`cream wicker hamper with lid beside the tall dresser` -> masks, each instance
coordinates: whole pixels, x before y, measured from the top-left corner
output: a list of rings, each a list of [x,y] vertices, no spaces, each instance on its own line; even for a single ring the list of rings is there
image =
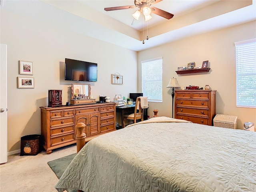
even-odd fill
[[[230,129],[236,129],[237,116],[216,114],[213,119],[213,125],[215,127],[224,127]]]

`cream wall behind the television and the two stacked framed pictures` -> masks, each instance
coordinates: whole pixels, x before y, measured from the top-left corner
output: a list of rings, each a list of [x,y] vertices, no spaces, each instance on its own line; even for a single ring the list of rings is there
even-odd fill
[[[40,9],[31,10],[28,1],[19,1],[20,10],[12,9],[16,1],[5,1],[1,8],[1,43],[8,45],[8,152],[20,149],[20,137],[41,134],[39,107],[48,105],[49,89],[63,90],[64,105],[70,99],[72,82],[64,81],[65,58],[98,63],[98,81],[90,82],[96,100],[100,94],[113,100],[115,94],[127,97],[137,91],[137,52],[38,20],[36,14],[48,16],[41,11],[46,5],[29,2]],[[54,11],[62,17],[62,11]],[[17,77],[26,76],[19,74],[19,60],[33,62],[33,75],[28,77],[34,78],[34,89],[17,88]],[[116,72],[123,75],[123,85],[111,84]]]

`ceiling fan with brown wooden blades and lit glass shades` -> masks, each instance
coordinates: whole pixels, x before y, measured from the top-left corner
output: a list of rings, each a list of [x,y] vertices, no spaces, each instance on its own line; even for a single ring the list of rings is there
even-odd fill
[[[150,13],[157,14],[161,17],[164,17],[166,19],[171,19],[174,14],[168,13],[164,10],[158,9],[156,7],[150,7],[152,4],[156,4],[162,0],[134,0],[134,5],[128,5],[128,6],[118,6],[118,7],[107,7],[104,8],[105,11],[114,11],[114,10],[122,10],[122,9],[131,9],[131,8],[139,8],[132,16],[138,20],[141,13],[143,13],[145,20],[148,21],[152,18],[150,16]]]

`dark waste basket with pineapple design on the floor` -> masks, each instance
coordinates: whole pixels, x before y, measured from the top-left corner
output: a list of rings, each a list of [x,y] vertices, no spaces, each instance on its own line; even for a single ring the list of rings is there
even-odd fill
[[[41,150],[41,135],[26,135],[20,138],[20,156],[37,155]]]

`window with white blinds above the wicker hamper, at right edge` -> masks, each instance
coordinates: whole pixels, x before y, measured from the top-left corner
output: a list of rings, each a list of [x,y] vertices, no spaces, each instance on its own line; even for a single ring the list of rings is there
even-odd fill
[[[256,38],[235,46],[236,106],[256,108]]]

